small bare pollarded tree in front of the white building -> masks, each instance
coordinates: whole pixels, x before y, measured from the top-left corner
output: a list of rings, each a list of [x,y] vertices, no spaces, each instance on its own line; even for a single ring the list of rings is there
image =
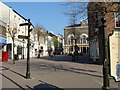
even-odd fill
[[[7,33],[9,34],[9,36],[11,37],[12,39],[12,43],[13,43],[13,50],[12,50],[12,53],[13,53],[13,64],[15,64],[15,57],[14,57],[14,45],[15,45],[15,37],[17,35],[17,33],[19,32],[20,30],[17,30],[17,28],[10,28],[8,26],[8,29],[7,29]]]

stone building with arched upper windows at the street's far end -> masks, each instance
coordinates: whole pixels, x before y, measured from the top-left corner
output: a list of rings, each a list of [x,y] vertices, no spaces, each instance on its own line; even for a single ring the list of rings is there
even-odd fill
[[[75,45],[78,46],[79,54],[88,53],[88,25],[85,20],[80,21],[80,24],[74,24],[64,28],[64,54],[73,54]]]

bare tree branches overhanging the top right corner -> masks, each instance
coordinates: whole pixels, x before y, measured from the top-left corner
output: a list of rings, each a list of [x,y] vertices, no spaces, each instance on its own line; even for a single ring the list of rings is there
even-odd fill
[[[114,0],[113,0],[114,1]],[[87,13],[88,12],[98,12],[94,10],[89,10],[88,7],[98,7],[102,9],[102,12],[110,13],[110,12],[120,12],[120,1],[118,2],[110,2],[109,0],[99,0],[95,2],[94,0],[91,2],[80,2],[80,1],[74,1],[74,0],[68,0],[67,3],[63,4],[65,6],[65,15],[68,15],[70,17],[70,20],[72,19],[73,15],[76,14],[77,18],[79,19],[86,19],[87,20]],[[115,5],[114,9],[111,9],[111,5]]]

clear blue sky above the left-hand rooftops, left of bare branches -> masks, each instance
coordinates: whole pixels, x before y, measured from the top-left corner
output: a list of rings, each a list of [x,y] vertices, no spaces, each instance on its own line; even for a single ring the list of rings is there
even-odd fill
[[[69,16],[64,15],[62,2],[5,2],[34,26],[40,24],[48,31],[64,35],[64,27],[69,25]]]

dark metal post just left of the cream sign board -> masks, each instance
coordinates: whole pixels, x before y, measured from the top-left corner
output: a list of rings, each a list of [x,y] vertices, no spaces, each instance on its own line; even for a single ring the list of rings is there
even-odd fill
[[[101,34],[102,34],[102,46],[103,46],[103,90],[110,90],[109,84],[109,67],[108,67],[108,41],[106,36],[106,19],[101,18]]]

